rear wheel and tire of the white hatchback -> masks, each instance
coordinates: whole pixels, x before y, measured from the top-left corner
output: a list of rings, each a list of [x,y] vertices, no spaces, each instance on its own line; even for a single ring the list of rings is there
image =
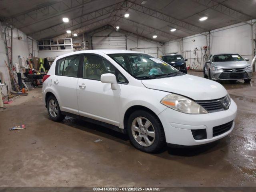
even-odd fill
[[[51,120],[53,121],[62,121],[66,115],[62,115],[60,111],[60,106],[57,99],[54,96],[49,96],[47,99],[47,111]]]

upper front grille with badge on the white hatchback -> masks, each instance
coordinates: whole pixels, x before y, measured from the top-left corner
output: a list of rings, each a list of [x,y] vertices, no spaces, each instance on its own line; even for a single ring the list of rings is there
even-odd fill
[[[230,98],[228,95],[226,95],[225,97],[222,97],[216,100],[196,101],[196,102],[210,113],[210,112],[227,110],[228,106],[230,105]],[[228,106],[225,107],[224,102],[226,102]]]

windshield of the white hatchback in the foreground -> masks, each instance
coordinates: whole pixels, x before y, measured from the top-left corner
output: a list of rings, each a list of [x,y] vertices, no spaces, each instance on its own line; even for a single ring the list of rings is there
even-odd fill
[[[120,66],[137,79],[162,78],[183,74],[162,60],[148,54],[109,54]]]

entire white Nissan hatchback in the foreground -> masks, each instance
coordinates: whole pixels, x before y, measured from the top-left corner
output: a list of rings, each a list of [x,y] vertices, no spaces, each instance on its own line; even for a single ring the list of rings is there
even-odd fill
[[[145,152],[166,143],[193,146],[223,138],[234,128],[237,111],[218,82],[127,50],[57,57],[44,76],[42,93],[52,120],[68,115],[127,132]]]

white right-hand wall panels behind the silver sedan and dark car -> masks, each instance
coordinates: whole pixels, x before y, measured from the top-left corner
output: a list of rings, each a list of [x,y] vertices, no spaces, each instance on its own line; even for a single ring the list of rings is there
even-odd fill
[[[256,28],[256,24],[254,24]],[[254,30],[254,38],[256,31]],[[195,40],[195,41],[193,41]],[[209,39],[208,39],[209,40]],[[182,41],[182,44],[179,43]],[[164,53],[182,53],[184,58],[188,59],[186,65],[194,66],[198,62],[197,70],[202,70],[205,60],[203,47],[208,45],[206,37],[202,34],[188,36],[183,40],[166,42]],[[194,50],[198,48],[198,56],[194,54]],[[182,50],[181,50],[182,49]],[[201,51],[202,50],[202,51]],[[226,26],[216,30],[210,31],[210,53],[238,53],[244,58],[250,59],[249,64],[252,62],[252,28],[248,24],[238,23],[231,26]],[[198,60],[197,60],[198,58]],[[255,66],[256,67],[256,66]]]

